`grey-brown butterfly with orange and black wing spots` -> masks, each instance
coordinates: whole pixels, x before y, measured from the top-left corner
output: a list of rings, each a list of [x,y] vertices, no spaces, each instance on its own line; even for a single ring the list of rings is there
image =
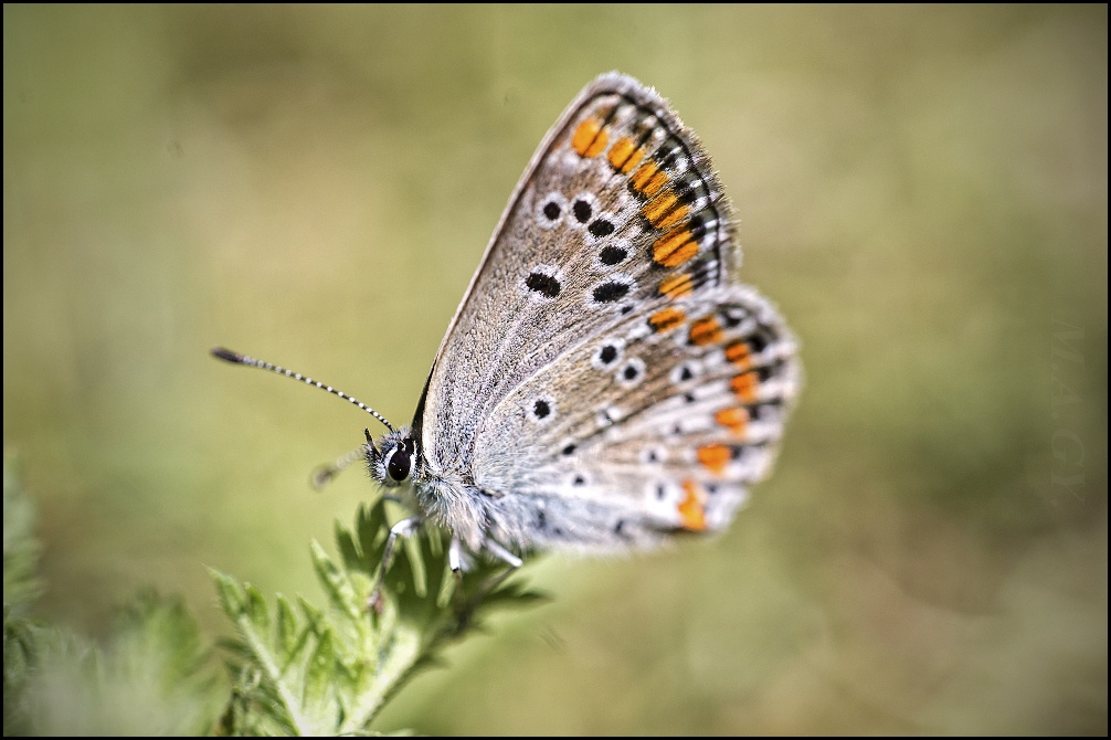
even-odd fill
[[[327,388],[389,428],[359,453],[409,491],[407,524],[451,533],[453,568],[460,548],[517,566],[730,523],[771,470],[801,378],[778,310],[734,278],[731,218],[668,102],[602,74],[518,182],[412,424]]]

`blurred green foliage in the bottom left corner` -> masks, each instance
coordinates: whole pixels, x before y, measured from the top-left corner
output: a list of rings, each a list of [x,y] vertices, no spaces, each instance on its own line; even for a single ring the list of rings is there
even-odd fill
[[[42,584],[34,507],[16,461],[3,470],[4,734],[197,734],[220,686],[177,599],[140,593],[98,646],[30,616]]]

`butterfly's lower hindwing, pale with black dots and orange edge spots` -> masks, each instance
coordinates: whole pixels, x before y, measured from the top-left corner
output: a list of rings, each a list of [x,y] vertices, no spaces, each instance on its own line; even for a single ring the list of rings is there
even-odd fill
[[[512,489],[497,508],[533,511],[506,527],[510,539],[609,550],[715,531],[765,476],[798,388],[793,340],[743,286],[684,308],[690,320],[662,332],[630,317],[494,408],[476,444],[476,483]]]

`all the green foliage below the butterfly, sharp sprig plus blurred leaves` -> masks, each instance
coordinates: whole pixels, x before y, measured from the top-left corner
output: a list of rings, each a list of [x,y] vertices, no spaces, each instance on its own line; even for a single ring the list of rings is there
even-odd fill
[[[140,593],[94,643],[32,616],[42,584],[34,506],[4,458],[4,734],[360,734],[418,670],[494,610],[536,603],[504,567],[479,561],[457,578],[447,539],[401,540],[369,609],[389,533],[384,501],[337,524],[339,559],[310,552],[327,606],[268,599],[213,571],[237,629],[227,676],[179,599]]]

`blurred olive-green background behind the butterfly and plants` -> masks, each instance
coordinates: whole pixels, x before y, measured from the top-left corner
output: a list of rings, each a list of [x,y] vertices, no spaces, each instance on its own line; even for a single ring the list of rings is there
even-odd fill
[[[620,69],[694,128],[802,342],[714,541],[529,566],[378,723],[1094,732],[1107,721],[1107,7],[3,9],[3,434],[44,614],[204,566],[320,600],[517,178]]]

